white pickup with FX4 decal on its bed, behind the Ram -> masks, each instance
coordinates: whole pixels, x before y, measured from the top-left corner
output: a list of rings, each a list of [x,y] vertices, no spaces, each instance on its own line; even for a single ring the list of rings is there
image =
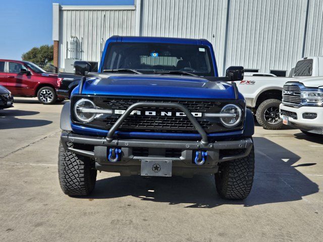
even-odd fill
[[[236,81],[239,91],[246,99],[247,107],[256,115],[264,129],[278,130],[283,126],[279,115],[282,91],[286,82],[302,77],[323,76],[323,56],[300,59],[291,70],[291,77],[275,77],[272,74],[246,73],[242,81]],[[252,76],[251,76],[252,75]]]

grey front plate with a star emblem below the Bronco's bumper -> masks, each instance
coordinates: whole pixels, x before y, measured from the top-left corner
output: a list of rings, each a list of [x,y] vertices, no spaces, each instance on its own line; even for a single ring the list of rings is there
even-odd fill
[[[141,160],[141,175],[172,176],[172,160]]]

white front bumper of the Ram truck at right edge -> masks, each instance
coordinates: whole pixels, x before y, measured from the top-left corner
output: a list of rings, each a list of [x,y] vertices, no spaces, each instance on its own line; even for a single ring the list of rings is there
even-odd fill
[[[280,116],[288,116],[288,122],[291,126],[311,133],[323,134],[323,107],[290,107],[284,104],[280,106]],[[287,115],[284,111],[293,112],[294,115]],[[313,119],[304,118],[304,113],[315,113],[317,116]],[[296,115],[295,115],[296,114]]]

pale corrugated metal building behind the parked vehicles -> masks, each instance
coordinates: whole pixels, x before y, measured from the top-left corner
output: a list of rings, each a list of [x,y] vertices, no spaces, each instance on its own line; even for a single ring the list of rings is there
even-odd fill
[[[219,74],[229,66],[289,74],[298,59],[323,55],[323,0],[135,0],[133,6],[53,4],[54,65],[99,62],[113,35],[207,39]]]

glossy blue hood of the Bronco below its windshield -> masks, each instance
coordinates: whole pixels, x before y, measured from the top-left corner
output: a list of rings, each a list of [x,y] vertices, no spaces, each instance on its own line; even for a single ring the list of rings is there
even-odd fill
[[[172,75],[99,74],[84,83],[82,94],[235,99],[229,83]]]

